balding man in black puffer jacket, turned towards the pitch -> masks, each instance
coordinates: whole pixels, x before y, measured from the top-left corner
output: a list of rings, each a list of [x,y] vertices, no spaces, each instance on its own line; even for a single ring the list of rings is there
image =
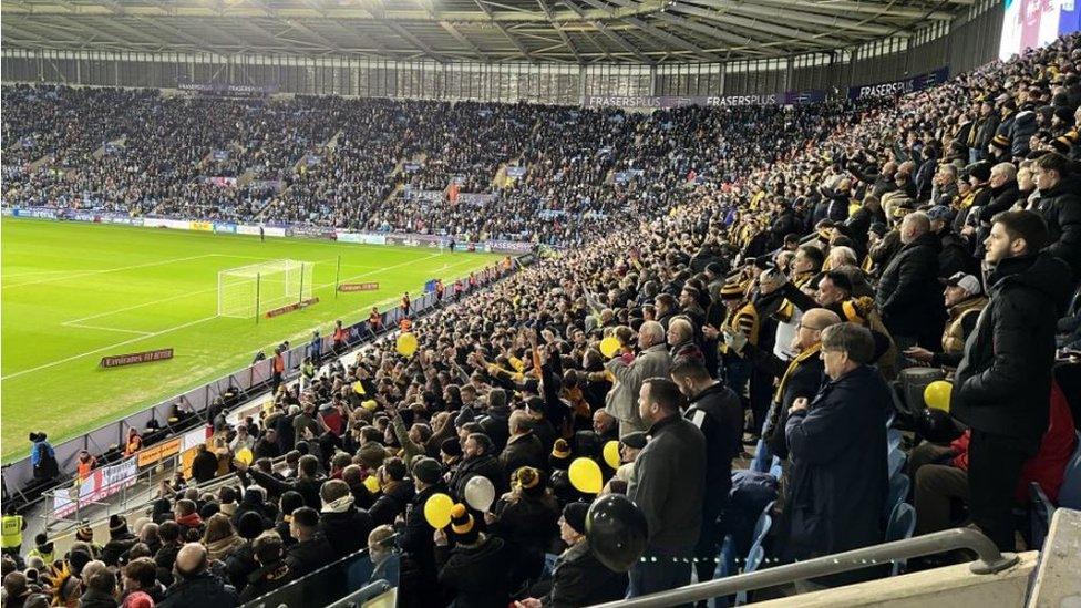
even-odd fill
[[[938,236],[930,218],[916,212],[900,225],[899,251],[886,266],[875,303],[899,349],[917,343],[935,347],[943,336],[946,308],[938,282]]]

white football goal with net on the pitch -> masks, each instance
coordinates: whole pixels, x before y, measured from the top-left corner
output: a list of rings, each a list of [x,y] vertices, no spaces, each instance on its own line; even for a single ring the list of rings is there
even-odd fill
[[[312,262],[279,259],[218,272],[218,316],[251,319],[311,299]]]

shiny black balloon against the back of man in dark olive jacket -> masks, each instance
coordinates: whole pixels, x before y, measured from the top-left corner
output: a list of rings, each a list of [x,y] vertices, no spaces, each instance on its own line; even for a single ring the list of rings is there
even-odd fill
[[[626,573],[646,552],[649,529],[641,509],[620,494],[597,498],[586,515],[586,538],[601,564]]]

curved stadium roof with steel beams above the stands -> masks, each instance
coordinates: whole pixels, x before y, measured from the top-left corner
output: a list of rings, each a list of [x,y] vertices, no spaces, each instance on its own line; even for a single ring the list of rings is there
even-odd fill
[[[907,35],[974,0],[2,0],[4,47],[700,62]]]

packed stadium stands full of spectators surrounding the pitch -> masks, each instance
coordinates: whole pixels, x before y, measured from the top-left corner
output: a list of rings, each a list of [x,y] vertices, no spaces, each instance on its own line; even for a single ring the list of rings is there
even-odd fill
[[[1038,548],[1026,515],[1081,506],[1079,58],[1070,35],[908,95],[649,114],[6,86],[4,141],[33,142],[6,205],[574,246],[418,319],[415,355],[380,338],[223,412],[224,453],[148,521],[6,549],[9,598],[236,606],[331,566],[342,597],[587,606],[966,523]],[[931,367],[950,396],[895,408]]]

